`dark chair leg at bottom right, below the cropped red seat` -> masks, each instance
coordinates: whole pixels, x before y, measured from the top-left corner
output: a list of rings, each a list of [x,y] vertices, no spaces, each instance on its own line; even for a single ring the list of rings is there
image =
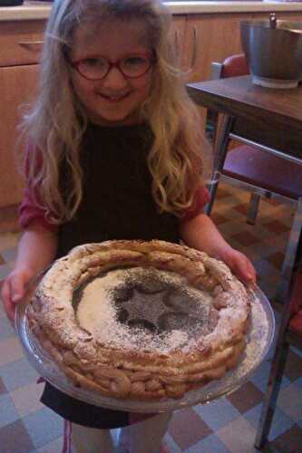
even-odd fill
[[[280,346],[276,348],[276,352],[272,360],[268,378],[268,387],[262,403],[262,410],[255,440],[255,447],[258,449],[264,447],[268,441],[268,433],[276,410],[278,393],[287,361],[288,349],[289,345],[283,339]]]

